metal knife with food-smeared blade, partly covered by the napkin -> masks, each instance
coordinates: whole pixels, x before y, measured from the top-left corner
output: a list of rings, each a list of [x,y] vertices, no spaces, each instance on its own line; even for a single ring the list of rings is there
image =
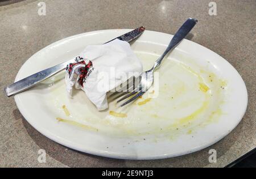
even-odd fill
[[[127,32],[115,39],[131,42],[131,41],[137,39],[139,36],[141,36],[142,33],[144,32],[144,29],[145,29],[144,27],[139,27],[139,28],[134,29],[133,31]],[[113,41],[115,39],[112,39],[110,41]],[[110,41],[108,41],[108,42],[110,42]],[[106,43],[108,43],[108,42],[106,42]],[[51,77],[52,75],[55,75],[55,74],[59,73],[60,71],[64,70],[65,67],[68,65],[68,63],[72,63],[74,59],[71,59],[64,63],[60,63],[59,65],[55,65],[53,67],[49,67],[48,69],[39,71],[38,73],[27,76],[26,78],[23,78],[23,79],[19,80],[18,82],[10,84],[9,86],[7,86],[5,88],[6,95],[7,96],[16,95],[19,92],[27,90],[28,88],[31,88],[32,86],[35,86],[35,84],[42,82],[43,80]]]

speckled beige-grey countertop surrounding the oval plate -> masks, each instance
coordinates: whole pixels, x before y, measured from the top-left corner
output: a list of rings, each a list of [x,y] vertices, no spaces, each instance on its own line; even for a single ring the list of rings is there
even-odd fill
[[[256,147],[256,1],[214,1],[217,15],[210,16],[211,0],[120,1],[77,0],[46,3],[38,15],[33,0],[0,3],[0,167],[224,167]],[[3,88],[14,81],[22,64],[45,46],[78,33],[100,29],[136,28],[174,34],[188,17],[199,20],[192,41],[227,59],[245,80],[247,112],[228,136],[193,154],[163,160],[117,160],[83,154],[61,146],[36,131],[20,114],[14,98]],[[38,150],[46,150],[46,163]],[[217,151],[209,163],[208,151]]]

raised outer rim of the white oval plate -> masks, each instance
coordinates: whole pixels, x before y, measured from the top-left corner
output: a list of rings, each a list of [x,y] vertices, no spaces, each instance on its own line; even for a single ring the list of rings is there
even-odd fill
[[[118,33],[122,34],[122,33],[128,32],[128,31],[131,31],[131,30],[132,29],[106,29],[106,30],[101,30],[101,31],[85,32],[85,33],[80,33],[78,35],[70,36],[70,37],[67,37],[65,39],[61,39],[59,41],[53,42],[52,44],[50,44],[50,45],[46,46],[45,48],[39,50],[33,56],[31,56],[30,58],[27,59],[27,61],[23,64],[23,66],[20,68],[18,74],[16,75],[15,81],[25,77],[25,76],[22,75],[22,69],[24,68],[25,65],[27,65],[27,63],[30,63],[31,59],[34,58],[34,56],[36,54],[42,52],[43,50],[51,48],[51,46],[55,46],[55,45],[59,44],[60,42],[71,40],[71,39],[75,39],[77,37],[79,38],[81,36],[86,36],[86,35],[97,35],[99,33],[108,33],[108,32],[118,32]],[[143,33],[143,35],[145,33],[151,33],[151,34],[158,33],[158,34],[162,34],[163,36],[172,37],[172,35],[170,35],[168,33],[163,33],[163,32],[145,31]],[[230,66],[234,70],[236,70],[228,61],[226,61],[226,59],[222,58],[221,56],[219,56],[217,53],[213,52],[212,50],[210,50],[208,48],[205,48],[204,46],[202,46],[200,44],[197,44],[196,42],[187,40],[187,39],[185,39],[185,40],[183,40],[183,42],[181,42],[181,44],[187,44],[187,43],[191,43],[192,45],[196,45],[197,48],[207,50],[207,51],[209,51],[209,53],[212,53],[215,56],[217,55],[218,58],[221,58],[221,60],[224,60],[226,63],[228,63],[228,66]],[[177,48],[179,48],[179,46],[177,46]],[[236,70],[236,73],[237,73],[238,76],[240,76],[240,78],[242,80],[242,77],[237,72],[237,70]],[[45,135],[47,138],[49,138],[49,139],[51,139],[51,140],[53,140],[53,141],[55,141],[57,143],[63,144],[64,146],[67,146],[69,148],[73,148],[73,149],[75,149],[77,151],[81,151],[81,152],[85,152],[85,153],[93,154],[93,155],[98,155],[98,156],[112,157],[112,158],[116,158],[116,159],[150,160],[150,159],[164,159],[164,158],[168,158],[168,157],[175,157],[175,156],[181,156],[181,155],[185,155],[185,154],[190,154],[192,152],[199,151],[199,150],[202,150],[203,148],[209,147],[212,144],[214,144],[214,143],[218,142],[219,140],[221,140],[222,138],[224,138],[226,135],[228,135],[234,128],[236,128],[238,123],[240,123],[240,121],[242,120],[242,117],[244,116],[244,114],[246,112],[246,109],[247,109],[248,98],[247,98],[247,90],[246,90],[245,82],[242,80],[242,82],[240,82],[240,83],[242,84],[241,88],[243,88],[242,89],[243,96],[246,96],[246,99],[245,99],[244,104],[243,104],[242,109],[241,109],[241,111],[242,111],[241,116],[237,117],[237,118],[239,118],[239,120],[237,120],[236,125],[230,127],[230,130],[227,130],[226,133],[221,134],[220,137],[218,137],[218,138],[216,138],[214,140],[211,140],[208,143],[205,143],[205,144],[203,144],[201,146],[197,146],[197,147],[192,148],[191,150],[187,150],[185,152],[183,151],[183,152],[176,152],[176,154],[162,154],[162,155],[158,154],[158,155],[150,155],[150,156],[126,155],[126,154],[123,154],[122,152],[116,153],[116,152],[109,152],[109,151],[102,151],[102,150],[98,151],[97,149],[85,150],[86,147],[80,146],[79,144],[75,144],[75,143],[73,143],[71,141],[65,140],[65,139],[63,139],[63,138],[61,138],[61,137],[59,137],[59,136],[49,132],[48,130],[42,129],[40,126],[37,126],[33,122],[33,120],[31,119],[32,116],[30,116],[30,114],[27,113],[26,110],[24,110],[26,108],[26,106],[24,107],[22,105],[22,103],[20,101],[20,100],[22,100],[22,99],[20,99],[20,94],[15,95],[14,99],[15,99],[16,105],[18,106],[18,109],[20,110],[20,113],[22,113],[23,117],[27,120],[27,122],[30,123],[30,125],[33,126],[36,130],[38,130],[41,134]]]

